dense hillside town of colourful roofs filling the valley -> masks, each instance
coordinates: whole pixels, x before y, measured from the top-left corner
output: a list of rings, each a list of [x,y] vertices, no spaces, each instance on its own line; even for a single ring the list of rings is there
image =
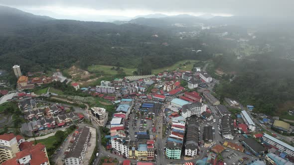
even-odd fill
[[[46,147],[33,137],[54,136],[70,127],[74,132],[50,155],[58,165],[294,165],[289,144],[294,127],[238,100],[220,101],[213,92],[218,81],[200,67],[83,87],[56,74],[23,76],[17,65],[12,70],[17,91],[1,90],[0,101],[17,103],[24,120],[20,134],[30,138],[0,135],[2,165],[49,165]],[[90,107],[83,97],[49,89],[41,94],[27,90],[61,80],[115,109]]]

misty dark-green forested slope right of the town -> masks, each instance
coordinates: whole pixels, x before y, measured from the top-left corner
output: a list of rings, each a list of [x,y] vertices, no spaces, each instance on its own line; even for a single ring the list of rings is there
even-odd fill
[[[232,82],[229,82],[229,77],[224,77],[215,87],[216,93],[221,99],[231,97],[244,105],[254,105],[259,112],[287,114],[287,110],[294,107],[294,61],[281,59],[277,53],[243,60],[232,56],[215,58],[216,68],[226,73],[234,71],[236,75]]]

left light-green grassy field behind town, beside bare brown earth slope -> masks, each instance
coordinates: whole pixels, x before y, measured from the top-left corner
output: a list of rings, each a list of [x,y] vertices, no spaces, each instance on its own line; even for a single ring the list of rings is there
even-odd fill
[[[88,71],[90,71],[90,72],[103,71],[104,75],[111,75],[111,76],[117,75],[118,72],[116,70],[111,70],[112,67],[113,66],[109,66],[109,65],[93,65],[93,66],[88,67]],[[132,76],[133,71],[137,71],[137,69],[135,69],[135,68],[121,68],[121,69],[124,70],[123,72],[125,72],[127,76]]]

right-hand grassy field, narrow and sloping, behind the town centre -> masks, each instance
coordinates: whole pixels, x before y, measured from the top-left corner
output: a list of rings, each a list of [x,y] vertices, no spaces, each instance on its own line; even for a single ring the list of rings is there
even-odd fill
[[[190,61],[191,63],[188,64],[188,65],[185,65],[185,66],[181,66],[180,67],[180,64],[184,64],[186,62]],[[163,67],[163,68],[158,68],[158,69],[154,69],[152,70],[152,74],[158,74],[160,72],[163,72],[163,71],[174,71],[174,70],[184,70],[184,71],[191,71],[193,69],[193,64],[198,62],[197,60],[182,60],[182,61],[178,61],[176,62],[175,64],[171,65],[171,66],[168,66],[168,67]]]

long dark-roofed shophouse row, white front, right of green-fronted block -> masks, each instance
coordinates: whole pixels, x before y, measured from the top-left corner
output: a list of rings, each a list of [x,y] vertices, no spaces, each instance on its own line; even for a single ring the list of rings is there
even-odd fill
[[[199,138],[199,125],[198,118],[189,118],[187,120],[187,134],[185,144],[185,157],[196,157],[200,154],[198,138]]]

